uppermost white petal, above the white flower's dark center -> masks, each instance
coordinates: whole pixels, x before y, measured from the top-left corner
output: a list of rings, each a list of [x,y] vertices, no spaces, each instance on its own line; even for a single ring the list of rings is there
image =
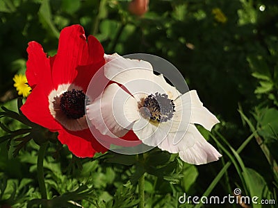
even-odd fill
[[[152,70],[152,64],[144,60],[131,60],[120,55],[104,55],[106,64],[104,74],[109,80],[113,80],[121,85],[140,101],[141,98],[149,94],[167,94],[174,100],[181,94],[169,85],[163,75],[156,76]]]

